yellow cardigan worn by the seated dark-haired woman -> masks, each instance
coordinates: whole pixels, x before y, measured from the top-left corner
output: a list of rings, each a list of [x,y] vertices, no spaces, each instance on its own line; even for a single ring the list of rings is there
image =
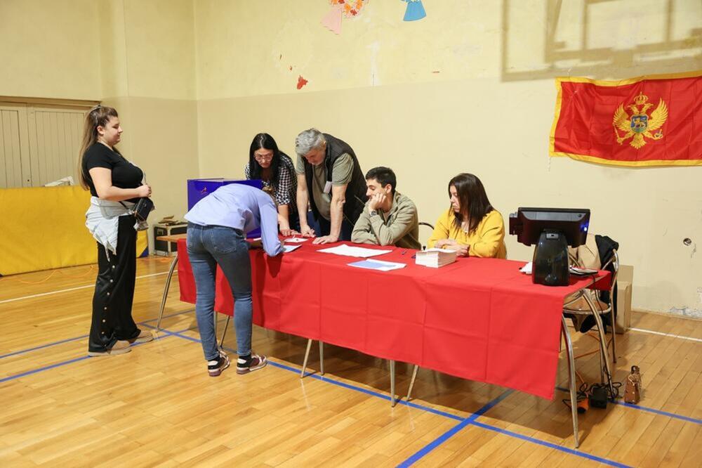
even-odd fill
[[[461,226],[456,226],[453,209],[449,208],[439,216],[434,233],[427,241],[427,247],[434,247],[437,240],[453,239],[459,244],[470,245],[469,256],[490,256],[497,259],[507,258],[505,245],[505,222],[496,209],[480,221],[474,233],[466,233]]]

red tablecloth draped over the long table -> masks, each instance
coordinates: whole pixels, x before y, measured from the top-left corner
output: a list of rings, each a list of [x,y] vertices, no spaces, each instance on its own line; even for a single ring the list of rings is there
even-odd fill
[[[519,272],[523,261],[470,257],[435,269],[417,266],[414,252],[399,248],[373,258],[405,268],[371,271],[347,265],[359,259],[317,252],[326,247],[307,241],[277,257],[251,250],[253,323],[553,397],[563,300],[589,278],[534,285]],[[600,274],[597,285],[609,287]],[[178,281],[180,300],[194,303],[185,240],[178,242]],[[232,315],[233,307],[218,270],[215,310]]]

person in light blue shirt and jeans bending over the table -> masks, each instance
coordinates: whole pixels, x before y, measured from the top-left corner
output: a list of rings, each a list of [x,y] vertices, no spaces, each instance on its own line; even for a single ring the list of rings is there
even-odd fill
[[[272,195],[258,188],[232,183],[197,202],[187,214],[187,255],[197,295],[195,316],[207,372],[217,377],[229,367],[227,354],[217,346],[214,327],[217,266],[234,296],[234,330],[237,333],[237,374],[263,368],[265,356],[251,352],[251,259],[246,233],[261,228],[261,243],[270,256],[283,252],[278,239],[278,214]]]

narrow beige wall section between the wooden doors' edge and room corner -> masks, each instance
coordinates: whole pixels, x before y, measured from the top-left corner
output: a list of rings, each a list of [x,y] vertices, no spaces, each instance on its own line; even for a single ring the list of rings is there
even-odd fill
[[[146,174],[152,221],[187,211],[199,175],[191,0],[100,2],[102,98],[120,112],[122,152]],[[150,231],[150,245],[153,246]]]

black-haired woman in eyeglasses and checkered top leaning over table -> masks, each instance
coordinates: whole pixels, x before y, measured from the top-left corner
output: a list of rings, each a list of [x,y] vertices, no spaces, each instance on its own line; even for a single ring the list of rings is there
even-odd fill
[[[258,134],[251,141],[249,164],[244,173],[247,179],[260,179],[263,187],[273,190],[278,205],[278,222],[282,235],[292,235],[300,230],[300,219],[296,203],[298,181],[293,160],[278,149],[269,134]]]

